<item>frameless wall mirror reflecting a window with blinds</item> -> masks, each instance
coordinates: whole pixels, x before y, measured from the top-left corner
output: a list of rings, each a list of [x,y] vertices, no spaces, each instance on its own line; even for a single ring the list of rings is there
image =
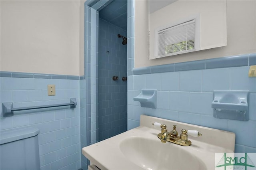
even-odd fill
[[[226,1],[148,0],[148,12],[149,59],[227,45]]]

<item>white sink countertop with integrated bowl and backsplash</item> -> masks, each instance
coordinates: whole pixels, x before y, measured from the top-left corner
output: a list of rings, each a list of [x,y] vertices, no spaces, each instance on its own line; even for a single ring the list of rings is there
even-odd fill
[[[188,136],[191,146],[161,143],[161,129],[154,122],[165,124],[168,131],[177,125],[179,134],[184,128],[202,136]],[[139,127],[84,147],[82,154],[101,170],[213,170],[215,153],[234,152],[234,145],[232,132],[141,115]]]

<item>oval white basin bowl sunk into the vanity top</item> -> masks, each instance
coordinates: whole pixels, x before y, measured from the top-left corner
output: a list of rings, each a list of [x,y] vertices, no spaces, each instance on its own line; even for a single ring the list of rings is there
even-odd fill
[[[122,140],[120,150],[131,162],[146,170],[167,170],[170,165],[174,170],[207,169],[204,162],[186,147],[159,140],[130,137]]]

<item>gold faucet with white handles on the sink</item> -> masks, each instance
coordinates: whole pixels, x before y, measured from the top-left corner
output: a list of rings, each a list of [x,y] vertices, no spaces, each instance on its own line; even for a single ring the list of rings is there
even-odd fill
[[[173,125],[173,130],[171,130],[170,132],[167,132],[166,125],[160,125],[160,127],[161,133],[159,133],[157,136],[163,143],[166,143],[166,141],[168,141],[182,146],[190,146],[191,141],[188,140],[188,134],[194,137],[202,136],[202,134],[199,133],[197,130],[186,129],[182,129],[180,136],[178,136],[178,132],[176,131],[176,125]]]

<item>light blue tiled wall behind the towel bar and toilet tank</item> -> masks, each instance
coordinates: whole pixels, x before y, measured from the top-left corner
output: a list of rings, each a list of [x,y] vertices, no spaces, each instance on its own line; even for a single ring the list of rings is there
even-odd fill
[[[5,75],[5,76],[2,76]],[[12,77],[7,76],[12,75]],[[42,170],[78,170],[81,168],[80,148],[80,94],[79,76],[34,75],[30,73],[1,72],[0,105],[13,102],[15,107],[69,103],[75,97],[75,109],[56,107],[16,111],[12,117],[2,117],[0,130],[19,127],[37,127],[40,130],[39,154]],[[56,77],[54,79],[53,77]],[[21,78],[25,77],[25,78]],[[49,78],[51,77],[51,78]],[[60,78],[64,79],[60,79]],[[78,78],[78,79],[77,79]],[[84,80],[81,80],[84,81]],[[56,95],[48,96],[47,85],[56,85]]]

